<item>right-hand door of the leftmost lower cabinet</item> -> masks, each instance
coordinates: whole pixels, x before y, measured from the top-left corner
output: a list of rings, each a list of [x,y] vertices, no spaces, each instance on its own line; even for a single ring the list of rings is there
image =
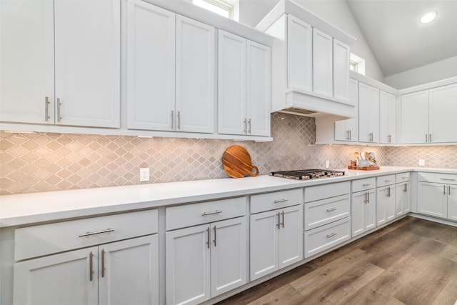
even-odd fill
[[[159,303],[159,238],[99,246],[99,305]]]

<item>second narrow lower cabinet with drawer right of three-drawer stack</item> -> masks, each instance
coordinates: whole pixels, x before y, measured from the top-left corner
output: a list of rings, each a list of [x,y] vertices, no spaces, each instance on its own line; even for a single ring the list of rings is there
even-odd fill
[[[395,219],[395,175],[376,178],[376,224]]]

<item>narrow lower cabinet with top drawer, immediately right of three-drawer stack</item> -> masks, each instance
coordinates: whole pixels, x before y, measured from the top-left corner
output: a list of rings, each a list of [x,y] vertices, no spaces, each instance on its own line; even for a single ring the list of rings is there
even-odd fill
[[[352,237],[376,228],[375,178],[352,181],[351,229]]]

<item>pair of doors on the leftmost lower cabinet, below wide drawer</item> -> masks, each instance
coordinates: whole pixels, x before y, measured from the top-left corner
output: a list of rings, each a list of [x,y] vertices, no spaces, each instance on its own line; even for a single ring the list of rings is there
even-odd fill
[[[155,234],[21,261],[14,304],[156,304],[158,248]]]

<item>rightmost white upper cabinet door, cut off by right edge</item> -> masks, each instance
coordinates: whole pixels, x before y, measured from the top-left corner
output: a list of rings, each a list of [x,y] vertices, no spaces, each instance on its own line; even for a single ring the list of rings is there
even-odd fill
[[[431,143],[457,141],[457,84],[429,91],[429,136]]]

